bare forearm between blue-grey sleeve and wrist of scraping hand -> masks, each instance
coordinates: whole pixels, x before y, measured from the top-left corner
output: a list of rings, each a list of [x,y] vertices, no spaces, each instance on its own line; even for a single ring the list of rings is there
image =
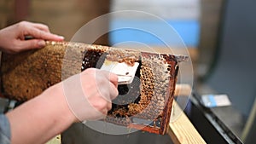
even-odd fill
[[[44,143],[73,124],[75,117],[67,106],[62,87],[57,88],[47,89],[7,113],[12,143]]]

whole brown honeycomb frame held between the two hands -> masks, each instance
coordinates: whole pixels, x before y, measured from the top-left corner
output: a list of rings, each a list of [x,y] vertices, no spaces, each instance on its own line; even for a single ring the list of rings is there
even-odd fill
[[[3,53],[3,95],[27,101],[44,89],[104,60],[139,63],[131,84],[118,86],[119,96],[105,121],[128,128],[166,134],[177,80],[178,62],[186,57],[71,42],[47,42],[44,49],[18,55]]]

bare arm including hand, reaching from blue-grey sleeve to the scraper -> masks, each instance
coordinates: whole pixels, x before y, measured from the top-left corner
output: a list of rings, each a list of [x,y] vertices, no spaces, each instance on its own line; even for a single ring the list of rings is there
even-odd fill
[[[42,95],[7,113],[14,144],[44,143],[79,120],[104,118],[111,109],[111,100],[118,95],[117,76],[88,69],[80,74],[84,97],[89,104],[80,104],[82,115],[67,105],[62,84],[56,84]],[[101,88],[101,89],[99,89]],[[76,90],[76,89],[70,89]],[[71,95],[73,99],[77,95]],[[79,116],[79,119],[76,116]]]

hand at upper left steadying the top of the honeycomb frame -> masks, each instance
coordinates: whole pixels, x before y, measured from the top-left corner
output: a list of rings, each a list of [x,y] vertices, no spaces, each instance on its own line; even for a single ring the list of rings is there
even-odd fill
[[[33,37],[26,40],[25,37]],[[0,49],[15,54],[26,49],[39,49],[45,46],[44,40],[62,41],[64,37],[49,32],[48,26],[21,21],[0,30]]]

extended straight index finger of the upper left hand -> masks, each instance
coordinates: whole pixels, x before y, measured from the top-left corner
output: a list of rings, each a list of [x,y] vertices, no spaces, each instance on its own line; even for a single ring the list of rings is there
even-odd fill
[[[38,38],[38,39],[44,39],[44,40],[53,40],[53,41],[62,41],[64,40],[64,37],[49,33],[49,32],[44,32],[41,30],[38,30],[34,27],[28,28],[26,35],[31,35],[32,37]]]

